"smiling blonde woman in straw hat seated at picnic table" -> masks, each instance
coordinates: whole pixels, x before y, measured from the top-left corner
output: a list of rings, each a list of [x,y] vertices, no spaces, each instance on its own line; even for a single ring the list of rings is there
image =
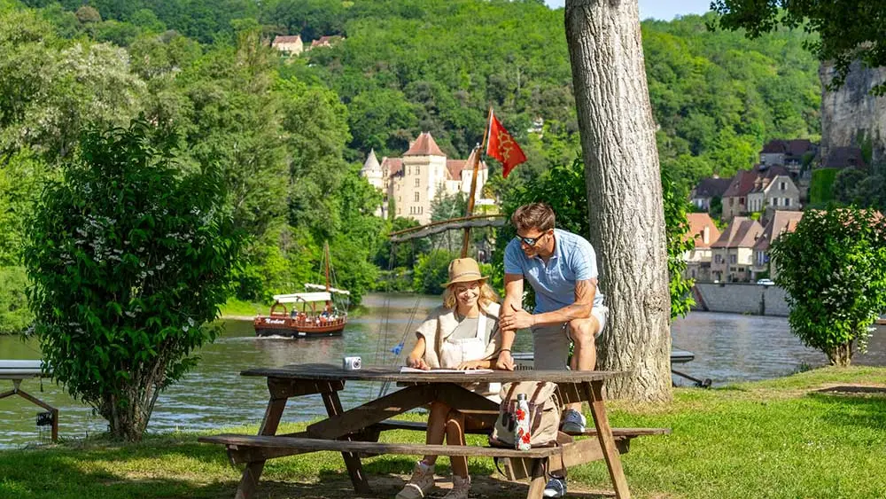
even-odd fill
[[[409,367],[431,369],[489,369],[499,354],[498,296],[480,274],[477,261],[459,258],[449,263],[449,282],[443,305],[435,308],[416,331],[416,347],[407,359]],[[471,390],[493,395],[489,384],[474,384]],[[431,403],[427,443],[464,445],[464,416],[441,402]],[[466,499],[470,490],[468,459],[451,456],[453,488],[444,499]],[[434,486],[437,456],[424,456],[416,463],[412,478],[397,499],[419,499]]]

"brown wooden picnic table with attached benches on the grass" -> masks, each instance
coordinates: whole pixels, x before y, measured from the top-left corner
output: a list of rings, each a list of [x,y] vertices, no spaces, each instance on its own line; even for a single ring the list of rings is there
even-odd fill
[[[495,370],[491,373],[445,373],[427,371],[400,373],[399,369],[367,367],[344,370],[330,364],[293,364],[276,368],[245,370],[241,375],[268,379],[270,399],[258,436],[222,434],[202,437],[199,441],[220,443],[228,449],[231,464],[245,464],[237,487],[237,499],[253,495],[264,464],[268,459],[320,450],[340,451],[354,490],[370,492],[361,466],[361,456],[377,454],[438,455],[438,456],[495,456],[507,459],[509,478],[531,478],[528,497],[542,497],[547,482],[546,470],[560,470],[575,464],[604,459],[619,498],[630,497],[620,452],[627,451],[627,443],[641,434],[667,433],[663,429],[618,430],[614,436],[603,404],[603,382],[624,376],[613,371],[563,370]],[[338,392],[346,381],[387,381],[408,386],[367,402],[350,410],[343,410]],[[461,411],[465,417],[491,428],[499,415],[499,404],[462,387],[466,382],[550,381],[559,387],[563,403],[589,402],[594,428],[584,433],[587,438],[572,441],[561,433],[563,444],[557,447],[532,448],[520,451],[510,448],[478,446],[419,445],[378,443],[381,431],[413,426],[391,418],[430,402],[444,402]],[[290,397],[321,394],[328,417],[307,426],[299,433],[277,435],[277,426]],[[406,425],[403,425],[406,423]],[[488,430],[486,430],[488,432]]]

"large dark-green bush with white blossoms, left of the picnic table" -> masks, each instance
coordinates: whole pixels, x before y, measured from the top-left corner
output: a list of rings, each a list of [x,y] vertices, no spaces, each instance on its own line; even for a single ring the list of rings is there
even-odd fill
[[[35,336],[52,376],[138,441],[159,393],[216,331],[239,236],[211,170],[183,175],[150,125],[93,130],[29,223]]]

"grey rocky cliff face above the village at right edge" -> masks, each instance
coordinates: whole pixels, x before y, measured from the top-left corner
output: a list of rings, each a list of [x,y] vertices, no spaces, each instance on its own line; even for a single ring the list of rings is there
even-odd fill
[[[886,160],[886,97],[870,94],[874,86],[886,82],[886,67],[869,69],[856,62],[840,90],[829,91],[833,75],[833,66],[820,66],[821,157],[827,157],[830,147],[861,145],[870,137],[874,163]]]

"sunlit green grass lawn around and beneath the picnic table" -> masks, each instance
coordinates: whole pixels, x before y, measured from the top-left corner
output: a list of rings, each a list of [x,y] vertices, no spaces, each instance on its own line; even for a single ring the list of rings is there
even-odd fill
[[[859,385],[881,390],[820,391]],[[886,497],[886,368],[826,368],[711,390],[680,388],[671,404],[611,402],[610,419],[615,426],[672,428],[670,435],[634,440],[631,452],[622,456],[635,497]],[[281,432],[303,426],[284,425]],[[197,436],[150,436],[126,446],[69,441],[0,451],[0,497],[233,497],[239,473],[230,468],[221,447],[198,444]],[[383,440],[419,442],[424,435],[389,432]],[[412,463],[410,456],[364,460],[377,497],[394,495]],[[525,495],[525,485],[494,478],[489,460],[471,460],[470,472],[476,484],[472,497]],[[446,457],[439,460],[438,475],[449,475]],[[573,468],[569,478],[569,496],[606,496],[611,490],[602,462]],[[438,490],[433,496],[443,494]],[[269,461],[256,497],[356,495],[341,457],[316,453]]]

